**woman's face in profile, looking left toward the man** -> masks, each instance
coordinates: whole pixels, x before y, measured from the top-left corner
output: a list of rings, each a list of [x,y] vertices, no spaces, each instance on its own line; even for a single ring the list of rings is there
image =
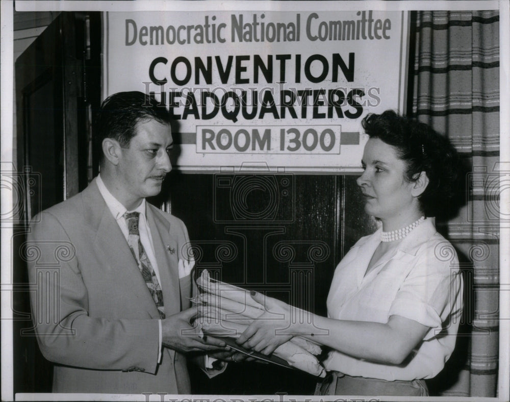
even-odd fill
[[[405,162],[397,148],[370,138],[365,145],[363,174],[356,180],[365,198],[365,212],[384,221],[414,216],[417,200],[411,195],[414,183],[405,180]],[[407,224],[407,223],[406,223]]]

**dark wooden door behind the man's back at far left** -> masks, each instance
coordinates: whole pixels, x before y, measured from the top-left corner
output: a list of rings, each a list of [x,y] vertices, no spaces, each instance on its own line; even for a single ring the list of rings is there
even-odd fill
[[[51,390],[52,365],[32,331],[25,258],[28,222],[87,186],[94,167],[92,108],[100,93],[100,15],[61,13],[15,63],[17,171],[23,193],[14,229],[14,391]]]

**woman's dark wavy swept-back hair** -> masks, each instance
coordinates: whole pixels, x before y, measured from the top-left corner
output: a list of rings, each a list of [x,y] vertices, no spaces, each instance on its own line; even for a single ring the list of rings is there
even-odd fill
[[[418,198],[420,208],[425,216],[443,216],[457,195],[460,177],[458,154],[448,138],[393,110],[368,114],[362,126],[370,138],[397,148],[407,166],[407,181],[416,181],[422,171],[427,173],[429,183]]]

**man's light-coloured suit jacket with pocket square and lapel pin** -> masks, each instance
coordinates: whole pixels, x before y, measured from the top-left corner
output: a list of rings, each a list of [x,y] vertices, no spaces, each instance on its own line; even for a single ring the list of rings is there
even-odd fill
[[[169,316],[190,306],[191,277],[179,273],[188,233],[148,203],[146,215]],[[95,180],[33,221],[31,305],[54,392],[190,393],[184,355],[163,348],[158,364],[158,310]]]

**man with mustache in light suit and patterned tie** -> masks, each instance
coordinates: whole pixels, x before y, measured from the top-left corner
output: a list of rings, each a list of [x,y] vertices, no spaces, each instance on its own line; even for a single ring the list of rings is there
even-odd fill
[[[171,170],[167,111],[122,92],[97,121],[98,177],[39,214],[25,248],[37,339],[56,363],[53,391],[190,393],[184,353],[228,349],[190,324],[184,223],[145,201]]]

